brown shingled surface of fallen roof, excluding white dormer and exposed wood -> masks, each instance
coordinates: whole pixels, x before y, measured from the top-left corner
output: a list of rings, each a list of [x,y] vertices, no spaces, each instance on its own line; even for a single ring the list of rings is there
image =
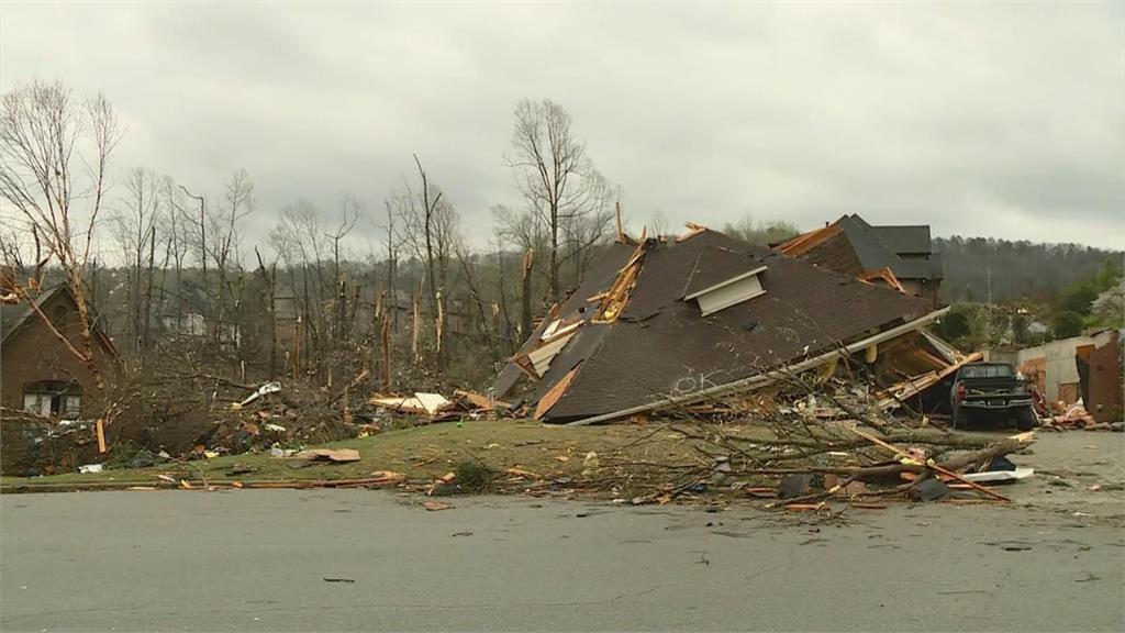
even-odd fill
[[[830,351],[932,309],[927,300],[710,230],[678,242],[648,240],[638,248],[640,271],[616,320],[591,318],[604,301],[597,297],[614,285],[638,250],[627,244],[611,246],[557,311],[564,321],[587,322],[538,380],[528,378],[528,400],[538,402],[577,367],[542,419],[577,420],[728,384]],[[734,280],[749,276],[764,294],[736,296],[713,314],[703,316],[698,300],[685,300],[716,286],[729,289]],[[549,321],[532,333],[515,360],[543,345]],[[529,373],[518,365],[510,363],[497,378],[498,398],[515,392]]]

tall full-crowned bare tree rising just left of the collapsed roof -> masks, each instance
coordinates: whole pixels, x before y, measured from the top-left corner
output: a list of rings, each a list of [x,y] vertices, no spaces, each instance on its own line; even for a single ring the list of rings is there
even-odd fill
[[[612,221],[604,195],[609,185],[587,158],[586,144],[572,131],[570,115],[550,99],[524,99],[516,105],[512,149],[514,153],[507,163],[515,170],[528,211],[547,226],[550,296],[558,302],[562,247],[567,240],[578,240],[580,244],[590,239],[585,230],[578,231],[574,225],[568,230],[567,224],[609,213],[609,221],[583,226],[604,232]]]

